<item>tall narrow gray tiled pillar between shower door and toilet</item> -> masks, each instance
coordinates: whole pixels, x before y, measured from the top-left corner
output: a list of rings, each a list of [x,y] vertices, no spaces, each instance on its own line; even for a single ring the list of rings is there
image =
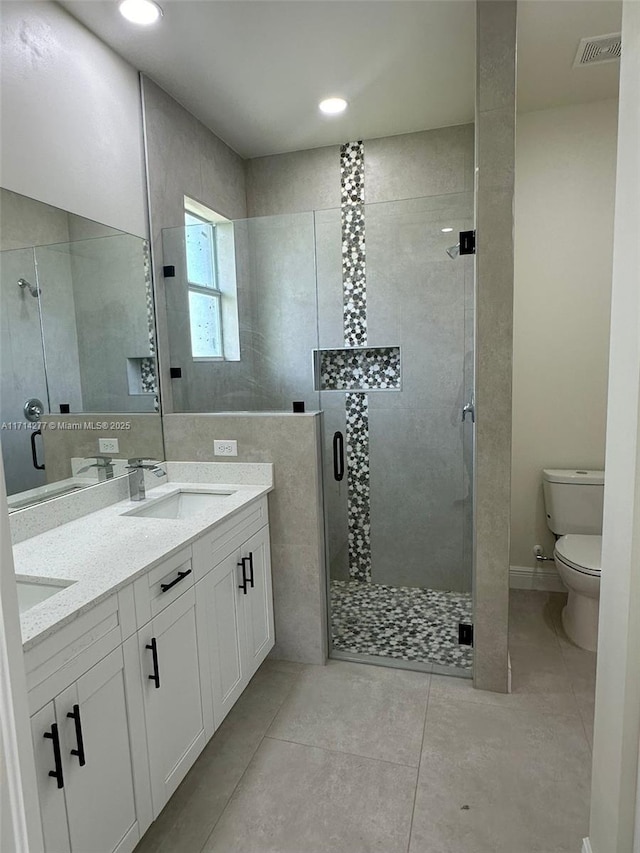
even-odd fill
[[[515,0],[478,0],[474,684],[508,689]]]

